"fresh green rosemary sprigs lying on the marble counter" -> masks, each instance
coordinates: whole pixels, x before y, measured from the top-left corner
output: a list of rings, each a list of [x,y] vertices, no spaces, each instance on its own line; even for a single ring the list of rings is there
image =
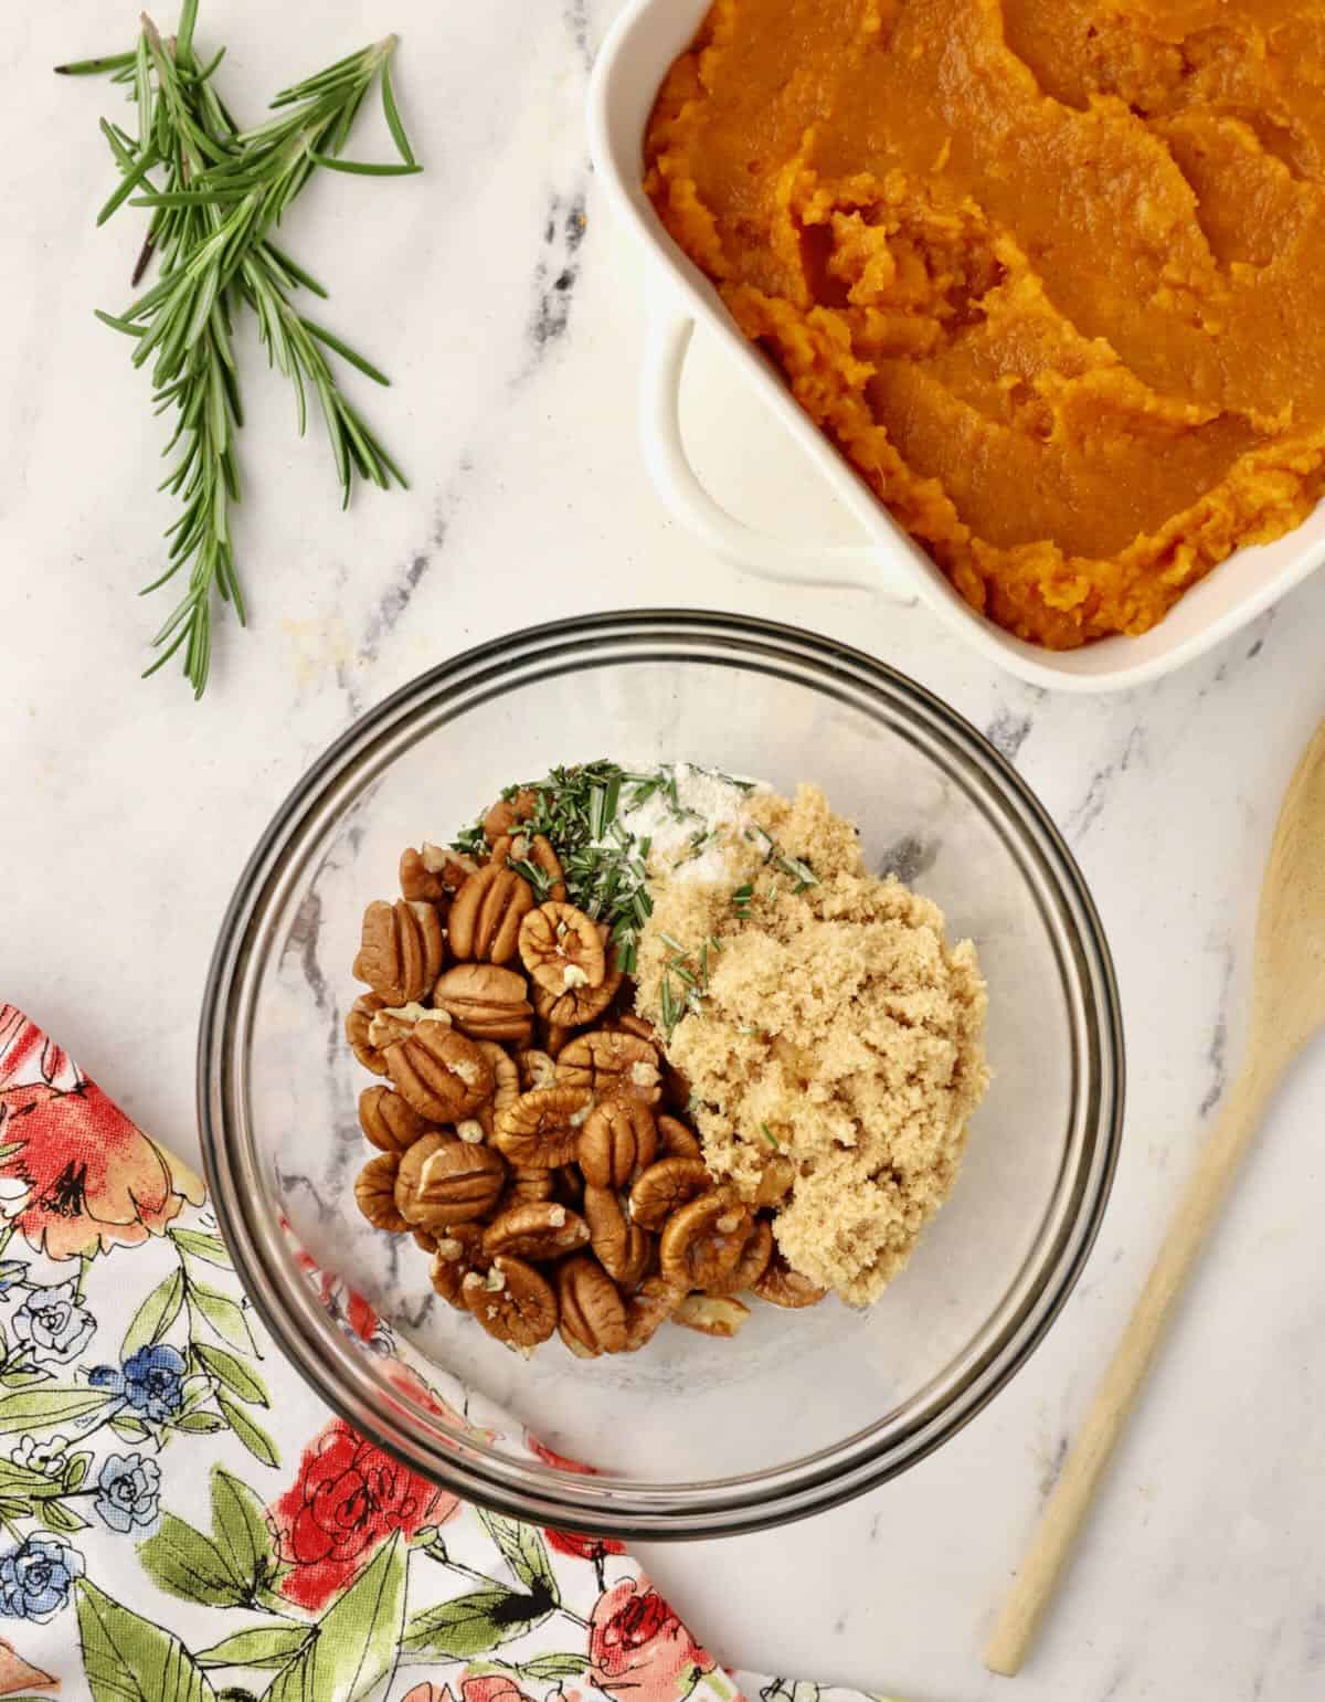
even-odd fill
[[[318,167],[383,177],[420,167],[391,90],[395,36],[286,89],[272,102],[272,117],[240,129],[213,80],[225,48],[202,63],[194,46],[196,24],[197,0],[184,0],[172,39],[143,17],[131,53],[56,70],[68,77],[109,73],[138,107],[136,134],[102,119],[121,180],[97,223],[104,225],[124,203],[150,208],[133,284],[155,255],[160,279],[122,313],[97,317],[134,339],[134,366],[151,363],[156,412],[175,415],[165,453],[179,449],[179,460],[160,488],[179,495],[184,511],[167,533],[167,568],[145,591],[185,570],[187,589],[153,638],[162,654],[145,672],[156,672],[182,650],[184,676],[201,698],[211,662],[213,594],[233,604],[242,625],[245,620],[230,531],[230,507],[240,499],[235,432],[243,424],[235,317],[240,308],[257,315],[269,361],[294,385],[301,436],[308,390],[316,397],[342,505],[350,502],[355,475],[383,490],[391,480],[403,485],[400,468],[340,390],[325,351],[379,385],[390,380],[293,305],[298,289],[321,298],[327,291],[277,248],[272,228]],[[340,158],[374,82],[400,163]]]

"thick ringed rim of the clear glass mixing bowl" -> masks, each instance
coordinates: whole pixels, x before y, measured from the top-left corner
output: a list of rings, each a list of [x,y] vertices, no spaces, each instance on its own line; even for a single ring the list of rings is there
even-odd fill
[[[359,1363],[362,1355],[320,1309],[276,1210],[264,1207],[264,1166],[247,1106],[243,1014],[257,985],[264,902],[279,888],[298,846],[333,807],[337,788],[401,728],[418,723],[422,711],[478,683],[500,677],[507,688],[524,686],[549,665],[561,674],[626,657],[760,664],[798,679],[808,676],[820,689],[840,688],[857,706],[861,698],[883,701],[1002,807],[1019,849],[1060,905],[1060,926],[1089,997],[1080,1013],[1087,1028],[1085,1093],[1075,1108],[1083,1151],[1066,1195],[1060,1183],[1053,1234],[1041,1231],[1027,1258],[1027,1266],[1038,1263],[1034,1292],[1024,1295],[997,1339],[980,1355],[968,1355],[956,1379],[949,1367],[893,1423],[803,1460],[697,1484],[587,1477],[541,1460],[517,1460],[458,1431],[444,1435],[418,1406],[415,1423],[400,1418],[412,1402],[396,1391],[390,1406],[381,1391],[374,1399],[366,1365]],[[886,1482],[964,1428],[1043,1341],[1085,1266],[1112,1186],[1123,1105],[1123,1021],[1099,914],[1061,834],[1002,752],[925,688],[850,645],[767,620],[691,609],[626,609],[524,628],[429,669],[362,715],[291,790],[250,856],[213,953],[197,1043],[197,1117],[211,1202],[253,1307],[304,1382],[376,1445],[480,1506],[529,1523],[628,1540],[689,1540],[782,1525]],[[925,1402],[942,1382],[951,1387]]]

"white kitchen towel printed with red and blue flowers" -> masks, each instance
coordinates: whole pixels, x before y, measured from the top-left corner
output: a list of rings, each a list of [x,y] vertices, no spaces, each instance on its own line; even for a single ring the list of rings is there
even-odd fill
[[[3,1004],[0,1214],[0,1697],[854,1697],[719,1668],[619,1542],[480,1513],[332,1418],[204,1183]]]

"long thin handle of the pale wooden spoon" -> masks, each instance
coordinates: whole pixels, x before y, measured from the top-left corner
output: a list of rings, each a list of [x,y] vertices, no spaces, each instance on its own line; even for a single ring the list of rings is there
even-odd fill
[[[1114,1350],[1080,1435],[1066,1457],[1053,1494],[1039,1515],[1022,1564],[1004,1600],[985,1648],[985,1666],[1012,1676],[1021,1671],[1044,1608],[1053,1600],[1077,1532],[1123,1433],[1133,1401],[1196,1256],[1218,1217],[1228,1186],[1260,1122],[1277,1072],[1252,1064],[1233,1084],[1209,1132],[1186,1191],[1174,1212],[1158,1258],[1123,1339]]]

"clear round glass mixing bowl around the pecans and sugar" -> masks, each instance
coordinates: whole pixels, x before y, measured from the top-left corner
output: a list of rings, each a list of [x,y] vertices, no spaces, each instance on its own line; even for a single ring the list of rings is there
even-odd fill
[[[638,1355],[510,1355],[359,1215],[367,1077],[342,1038],[359,919],[407,844],[446,839],[558,762],[685,759],[816,781],[871,868],[935,899],[988,977],[993,1084],[951,1200],[867,1312],[755,1307],[733,1341],[663,1329]],[[879,1484],[953,1436],[1043,1338],[1099,1229],[1123,1037],[1090,895],[1044,810],[949,708],[871,657],[765,621],[621,613],[483,645],[366,715],[243,871],[199,1040],[213,1200],[245,1287],[318,1394],[415,1471],[543,1525],[624,1537],[755,1530]],[[580,1476],[401,1397],[320,1309],[282,1232],[430,1362]]]

